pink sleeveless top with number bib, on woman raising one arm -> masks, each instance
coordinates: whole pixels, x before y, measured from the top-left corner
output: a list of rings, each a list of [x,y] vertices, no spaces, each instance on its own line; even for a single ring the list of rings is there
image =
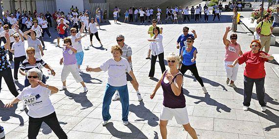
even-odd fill
[[[240,46],[237,43],[236,45],[230,43],[228,47],[226,47],[226,55],[224,61],[234,61],[239,57]]]

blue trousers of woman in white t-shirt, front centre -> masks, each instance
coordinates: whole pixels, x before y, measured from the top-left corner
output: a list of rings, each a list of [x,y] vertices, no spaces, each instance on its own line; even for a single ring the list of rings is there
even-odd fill
[[[103,99],[103,107],[102,107],[102,116],[103,120],[109,120],[111,119],[110,115],[110,105],[112,98],[118,90],[121,104],[122,104],[122,120],[128,121],[128,113],[129,113],[129,92],[127,84],[124,86],[112,86],[107,83],[106,89],[105,89],[105,96]]]

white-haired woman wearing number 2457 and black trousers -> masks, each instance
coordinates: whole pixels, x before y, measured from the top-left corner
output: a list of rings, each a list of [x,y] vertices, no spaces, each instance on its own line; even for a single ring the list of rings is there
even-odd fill
[[[27,73],[30,86],[25,87],[23,91],[11,102],[4,107],[11,108],[19,101],[29,107],[27,115],[28,121],[28,138],[36,139],[42,122],[45,122],[59,139],[68,139],[66,133],[59,125],[55,110],[49,96],[57,93],[59,90],[54,86],[47,85],[41,80],[43,73],[36,68],[32,68]]]

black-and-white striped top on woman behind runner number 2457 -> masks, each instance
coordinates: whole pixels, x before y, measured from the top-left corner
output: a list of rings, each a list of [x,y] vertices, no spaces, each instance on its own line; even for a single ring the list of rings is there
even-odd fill
[[[26,72],[32,68],[37,68],[39,70],[41,70],[43,68],[43,66],[46,65],[46,62],[42,59],[36,58],[36,63],[35,64],[30,64],[28,62],[28,59],[23,60],[23,63],[20,67],[21,70],[25,70]]]

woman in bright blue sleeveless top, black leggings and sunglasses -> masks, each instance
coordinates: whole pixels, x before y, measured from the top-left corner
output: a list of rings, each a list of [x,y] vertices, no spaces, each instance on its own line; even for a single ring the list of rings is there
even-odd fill
[[[208,93],[206,87],[204,86],[203,80],[199,76],[198,69],[196,66],[196,58],[198,51],[197,48],[193,46],[194,38],[187,38],[186,43],[187,45],[184,46],[181,50],[180,58],[182,60],[182,65],[180,71],[184,75],[187,70],[190,70],[201,84],[204,93]]]

